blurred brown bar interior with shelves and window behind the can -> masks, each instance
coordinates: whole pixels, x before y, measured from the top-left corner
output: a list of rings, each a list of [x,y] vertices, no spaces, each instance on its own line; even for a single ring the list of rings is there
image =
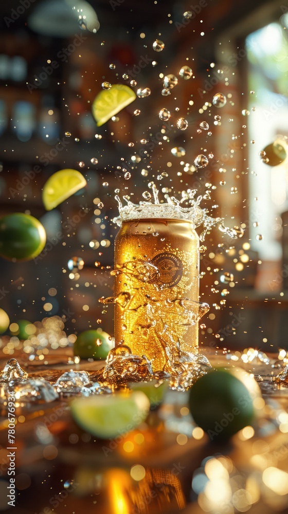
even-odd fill
[[[1,307],[11,322],[58,315],[67,333],[100,326],[112,334],[113,307],[103,311],[98,299],[113,293],[115,190],[138,202],[154,181],[163,197],[210,189],[207,208],[238,227],[237,240],[217,230],[206,238],[201,298],[211,309],[201,343],[287,347],[287,164],[271,167],[259,156],[288,135],[287,13],[288,4],[263,0],[1,3],[0,215],[26,212],[47,232],[40,259],[0,258]],[[161,52],[152,47],[157,38]],[[184,65],[191,79],[161,96],[163,77]],[[151,95],[97,127],[91,104],[103,81]],[[227,98],[219,109],[218,92]],[[179,109],[188,130],[167,133],[163,107]],[[202,121],[211,135],[199,130]],[[179,147],[184,158],[171,153]],[[212,157],[196,173],[203,151]],[[46,212],[43,185],[65,168],[81,171],[88,186]]]

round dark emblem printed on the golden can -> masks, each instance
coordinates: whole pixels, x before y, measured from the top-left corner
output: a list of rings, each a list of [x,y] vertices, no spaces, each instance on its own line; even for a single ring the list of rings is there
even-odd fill
[[[182,278],[183,265],[173,253],[158,253],[152,259],[151,264],[157,267],[160,273],[159,281],[164,287],[173,287]]]

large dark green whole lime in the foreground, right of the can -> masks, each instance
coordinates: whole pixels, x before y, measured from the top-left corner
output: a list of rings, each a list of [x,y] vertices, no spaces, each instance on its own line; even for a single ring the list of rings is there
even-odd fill
[[[239,372],[212,370],[200,377],[190,390],[190,412],[210,439],[217,443],[227,440],[250,425],[255,417],[253,400],[258,395],[258,384],[247,389]],[[247,374],[245,374],[247,375]]]

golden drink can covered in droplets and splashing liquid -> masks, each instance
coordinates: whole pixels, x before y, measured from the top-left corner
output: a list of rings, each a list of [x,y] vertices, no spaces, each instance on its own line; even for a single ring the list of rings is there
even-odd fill
[[[115,342],[153,372],[198,346],[199,237],[177,219],[124,222],[115,239]]]

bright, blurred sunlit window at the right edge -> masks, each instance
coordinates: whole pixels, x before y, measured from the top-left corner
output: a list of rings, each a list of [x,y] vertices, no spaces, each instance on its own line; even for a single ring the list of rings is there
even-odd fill
[[[287,159],[278,166],[268,166],[259,153],[275,141],[283,144],[284,150],[288,148],[288,41],[284,23],[285,15],[280,23],[271,23],[246,38],[251,248],[259,252],[260,259],[269,261],[281,259],[281,213],[288,210],[288,167]]]

